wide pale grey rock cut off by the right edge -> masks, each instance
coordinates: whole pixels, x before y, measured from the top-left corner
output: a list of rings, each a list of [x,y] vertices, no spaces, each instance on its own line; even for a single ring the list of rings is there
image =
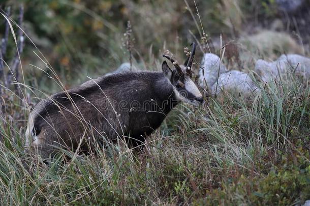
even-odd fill
[[[254,70],[264,82],[285,79],[292,72],[304,79],[310,79],[310,58],[298,54],[283,54],[274,62],[258,60]]]

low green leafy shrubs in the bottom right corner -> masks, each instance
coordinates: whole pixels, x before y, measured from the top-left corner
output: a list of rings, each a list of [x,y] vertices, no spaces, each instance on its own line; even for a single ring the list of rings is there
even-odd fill
[[[298,149],[299,154],[303,153]],[[308,152],[305,152],[307,155]],[[294,154],[295,155],[295,154]],[[201,204],[298,204],[310,198],[309,162],[299,155],[295,158],[283,156],[282,161],[270,168],[267,175],[244,174],[232,181],[222,182],[222,189],[213,190],[206,199],[198,200]],[[254,171],[251,171],[254,172]],[[232,183],[231,183],[232,182]]]

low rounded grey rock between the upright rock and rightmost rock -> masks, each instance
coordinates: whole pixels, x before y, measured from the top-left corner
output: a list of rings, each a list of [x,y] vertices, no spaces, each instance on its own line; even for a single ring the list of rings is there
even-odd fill
[[[222,73],[217,85],[218,89],[216,89],[216,82],[212,85],[212,95],[215,95],[215,93],[219,95],[223,91],[233,91],[244,97],[250,97],[259,92],[252,78],[248,74],[237,70]]]

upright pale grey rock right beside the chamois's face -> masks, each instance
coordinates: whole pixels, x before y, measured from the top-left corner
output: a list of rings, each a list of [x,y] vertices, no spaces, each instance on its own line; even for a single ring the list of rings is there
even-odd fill
[[[201,61],[201,69],[199,71],[200,86],[210,88],[218,78],[219,69],[220,74],[227,71],[225,65],[221,64],[220,67],[220,57],[213,53],[205,53]]]

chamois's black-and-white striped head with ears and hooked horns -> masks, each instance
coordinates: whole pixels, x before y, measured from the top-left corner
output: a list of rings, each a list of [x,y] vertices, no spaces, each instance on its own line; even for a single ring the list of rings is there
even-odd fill
[[[194,55],[196,50],[195,43],[192,43],[192,51],[185,61],[184,65],[178,65],[178,63],[169,55],[163,55],[174,65],[174,69],[170,69],[167,62],[164,61],[162,65],[164,75],[171,82],[174,92],[178,100],[197,105],[203,102],[203,96],[201,95],[196,83],[192,80],[192,65],[194,61]]]

